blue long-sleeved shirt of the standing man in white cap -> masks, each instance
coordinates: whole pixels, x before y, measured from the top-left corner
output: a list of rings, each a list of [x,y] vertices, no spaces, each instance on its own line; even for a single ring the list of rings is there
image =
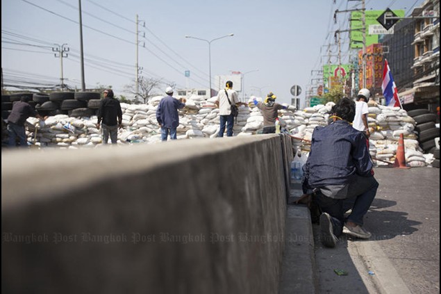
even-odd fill
[[[172,96],[165,96],[159,102],[156,109],[156,120],[158,124],[167,129],[176,129],[179,125],[178,109],[183,108],[183,104]]]

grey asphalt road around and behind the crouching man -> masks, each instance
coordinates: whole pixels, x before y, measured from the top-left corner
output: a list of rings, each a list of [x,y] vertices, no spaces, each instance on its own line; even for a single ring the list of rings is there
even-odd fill
[[[376,168],[380,183],[365,215],[370,240],[317,240],[319,293],[440,293],[440,170]],[[334,270],[345,270],[339,276]]]

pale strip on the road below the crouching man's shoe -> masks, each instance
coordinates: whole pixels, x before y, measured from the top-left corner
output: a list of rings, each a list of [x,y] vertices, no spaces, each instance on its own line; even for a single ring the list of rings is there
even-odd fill
[[[374,241],[351,242],[348,240],[347,248],[369,293],[411,294],[380,245]],[[369,270],[372,270],[374,275],[368,275]]]

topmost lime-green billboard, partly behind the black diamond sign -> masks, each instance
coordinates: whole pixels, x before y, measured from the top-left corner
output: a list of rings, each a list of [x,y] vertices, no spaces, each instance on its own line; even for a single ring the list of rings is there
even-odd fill
[[[404,10],[393,10],[398,17],[404,17]],[[366,31],[366,46],[378,43],[378,34],[370,34],[369,27],[375,27],[378,25],[376,20],[380,15],[384,13],[384,10],[367,10],[365,13],[365,31]],[[353,11],[351,13],[351,30],[356,30],[362,28],[361,22],[361,11]],[[372,27],[372,28],[373,28]],[[393,28],[393,27],[392,27]],[[391,28],[391,30],[392,30]],[[372,31],[373,33],[378,33]],[[351,31],[349,32],[351,36],[351,49],[361,49],[363,48],[363,33],[362,31]]]

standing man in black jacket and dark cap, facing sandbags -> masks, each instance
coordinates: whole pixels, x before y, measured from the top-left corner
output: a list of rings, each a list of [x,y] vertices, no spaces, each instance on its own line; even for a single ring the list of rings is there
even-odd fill
[[[112,144],[117,144],[118,140],[118,128],[122,128],[122,110],[121,104],[115,99],[112,89],[106,89],[103,92],[104,99],[101,100],[98,109],[98,123],[97,128],[101,121],[103,130],[103,144],[107,144],[109,140]]]

